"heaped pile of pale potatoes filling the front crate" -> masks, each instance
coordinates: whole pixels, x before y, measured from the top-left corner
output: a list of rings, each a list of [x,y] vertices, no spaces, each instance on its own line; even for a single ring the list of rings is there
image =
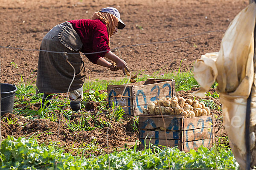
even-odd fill
[[[149,103],[148,109],[143,108],[143,114],[160,115],[161,113],[163,115],[184,116],[187,118],[210,115],[210,109],[205,107],[204,102],[177,96],[162,98]]]

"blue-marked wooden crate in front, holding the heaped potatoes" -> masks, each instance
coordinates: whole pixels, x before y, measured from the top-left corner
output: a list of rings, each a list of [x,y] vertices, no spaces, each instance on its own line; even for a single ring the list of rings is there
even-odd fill
[[[214,115],[184,118],[184,116],[140,115],[140,148],[144,144],[175,147],[181,151],[197,150],[199,146],[212,147],[215,138]],[[154,131],[157,127],[165,131]]]

